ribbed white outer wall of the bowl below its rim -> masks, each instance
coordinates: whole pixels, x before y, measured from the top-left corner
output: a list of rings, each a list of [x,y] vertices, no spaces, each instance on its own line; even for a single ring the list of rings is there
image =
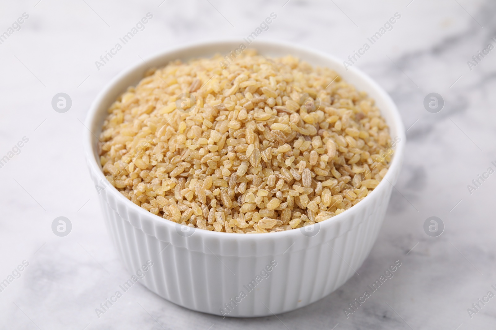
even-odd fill
[[[113,187],[100,190],[99,198],[127,269],[133,272],[153,261],[142,282],[148,289],[195,311],[254,317],[306,306],[348,281],[377,238],[392,186],[383,188],[360,202],[367,205],[345,221],[331,219],[325,227],[320,223],[314,236],[296,229],[290,237],[258,234],[263,239],[254,240],[239,240],[239,234],[204,236],[200,229],[182,236],[179,225],[166,226],[169,220],[152,221],[155,215],[131,209],[129,201],[109,193]],[[265,267],[274,261],[277,265],[267,272]],[[260,276],[264,269],[266,279]],[[253,280],[257,284],[247,286]],[[241,291],[246,297],[240,297]]]

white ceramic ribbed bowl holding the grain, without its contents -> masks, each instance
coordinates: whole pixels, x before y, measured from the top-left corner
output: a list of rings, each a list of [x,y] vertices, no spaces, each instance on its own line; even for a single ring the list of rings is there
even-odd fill
[[[319,51],[280,42],[256,41],[264,56],[292,54],[312,65],[334,69],[375,99],[400,142],[389,171],[372,193],[351,209],[304,229],[269,234],[228,234],[190,229],[156,216],[127,200],[102,173],[97,139],[108,107],[151,67],[175,59],[228,53],[239,40],[198,43],[159,53],[118,75],[93,102],[84,146],[105,221],[130,273],[153,261],[140,280],[161,297],[186,308],[233,317],[288,312],[328,295],[350,279],[371,251],[403,158],[405,130],[389,95],[364,73],[346,71],[340,60]],[[102,190],[103,189],[103,190]],[[243,292],[243,293],[242,293]]]

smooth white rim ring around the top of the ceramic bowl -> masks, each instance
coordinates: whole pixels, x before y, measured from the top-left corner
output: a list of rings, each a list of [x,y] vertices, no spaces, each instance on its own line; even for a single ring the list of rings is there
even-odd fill
[[[154,54],[147,56],[144,58],[144,60],[136,61],[133,65],[126,67],[124,70],[122,70],[118,75],[116,75],[110,82],[108,82],[105,87],[97,94],[95,97],[94,101],[91,103],[90,108],[86,114],[86,118],[84,121],[84,131],[83,131],[83,145],[84,145],[84,151],[85,151],[85,156],[86,156],[86,161],[88,164],[88,167],[90,171],[92,171],[97,177],[99,182],[105,182],[106,185],[108,186],[108,189],[106,188],[105,190],[108,193],[111,193],[117,200],[122,201],[123,203],[126,203],[126,207],[131,208],[132,210],[138,212],[141,216],[144,218],[150,219],[154,225],[158,226],[166,226],[168,227],[168,231],[175,232],[175,228],[178,225],[176,222],[162,218],[160,216],[157,216],[145,209],[143,209],[140,206],[137,206],[133,202],[131,202],[129,199],[125,198],[124,195],[117,190],[104,176],[101,166],[99,163],[97,163],[97,160],[94,157],[94,149],[93,149],[93,136],[94,135],[93,131],[91,130],[92,127],[94,127],[94,121],[96,120],[97,115],[99,114],[99,106],[102,101],[105,100],[106,95],[112,91],[112,89],[119,84],[122,80],[125,80],[128,78],[127,76],[132,75],[132,73],[139,69],[140,67],[143,66],[143,62],[149,63],[153,62],[156,60],[159,60],[163,57],[166,57],[168,55],[171,55],[174,52],[178,51],[185,51],[188,49],[194,49],[194,48],[201,48],[201,47],[207,47],[207,46],[225,46],[225,45],[232,45],[232,44],[239,44],[241,41],[240,39],[237,38],[223,38],[223,39],[215,39],[215,40],[208,40],[208,41],[200,41],[200,42],[192,42],[192,43],[186,43],[182,44],[176,47],[171,47],[167,48],[162,51],[155,52]],[[253,42],[256,46],[261,45],[261,46],[279,46],[283,47],[285,50],[287,49],[288,51],[293,50],[293,51],[303,51],[309,53],[309,55],[314,55],[320,58],[323,58],[327,61],[330,62],[335,62],[335,63],[343,63],[342,60],[339,58],[329,55],[323,51],[316,50],[311,47],[303,46],[303,45],[296,45],[293,43],[288,43],[288,42],[282,42],[282,41],[275,41],[271,39],[260,39],[260,40],[255,40]],[[263,52],[263,51],[262,51]],[[194,58],[191,57],[191,58]],[[310,63],[312,66],[315,66],[315,64]],[[164,63],[163,65],[167,65],[167,63]],[[369,85],[373,90],[379,94],[379,96],[382,98],[385,104],[388,105],[389,109],[388,111],[390,112],[390,117],[392,118],[392,122],[387,122],[387,125],[392,128],[394,127],[396,131],[396,136],[398,136],[402,143],[397,143],[396,146],[393,148],[394,149],[394,154],[391,159],[391,163],[389,165],[388,172],[386,176],[383,178],[383,180],[377,185],[375,189],[372,190],[372,192],[367,195],[362,201],[360,201],[358,204],[352,206],[348,210],[345,210],[344,212],[329,218],[327,220],[321,221],[319,223],[310,225],[310,226],[316,226],[319,225],[321,228],[320,230],[325,229],[326,227],[330,227],[333,224],[336,223],[344,223],[350,218],[353,218],[352,215],[353,213],[358,213],[360,212],[363,208],[366,208],[366,204],[369,201],[372,201],[373,196],[377,195],[380,193],[381,190],[387,189],[386,185],[390,184],[391,186],[394,187],[393,183],[391,181],[395,181],[395,178],[393,175],[395,172],[399,172],[402,159],[403,159],[403,153],[404,153],[404,148],[406,144],[406,134],[405,134],[405,128],[403,125],[403,122],[401,120],[401,116],[399,114],[399,111],[396,107],[396,104],[392,100],[392,98],[387,94],[387,92],[379,86],[372,78],[369,77],[366,73],[362,72],[361,70],[357,69],[356,67],[349,67],[346,70],[351,71],[353,74],[359,77],[359,79],[363,80],[363,82],[367,85]],[[343,75],[340,73],[340,76],[343,77]],[[346,77],[343,77],[344,80],[346,80]],[[123,91],[124,93],[124,91]],[[374,100],[377,100],[377,97],[374,98]],[[382,112],[384,109],[379,109]],[[102,111],[102,110],[100,110]],[[101,125],[99,126],[99,131],[101,131]],[[98,132],[97,132],[98,133]],[[386,182],[384,182],[386,181]],[[369,197],[369,198],[367,198]],[[104,215],[105,216],[105,215]],[[216,231],[208,231],[208,230],[201,230],[199,228],[195,228],[195,233],[198,232],[198,235],[205,235],[205,237],[210,237],[210,238],[217,238],[219,237],[222,239],[226,238],[234,238],[239,240],[260,240],[260,239],[270,239],[270,238],[278,238],[278,239],[283,239],[283,238],[296,238],[297,236],[303,236],[301,235],[299,230],[287,230],[287,231],[281,231],[281,232],[275,232],[275,233],[253,233],[250,235],[241,235],[238,233],[225,233],[225,232],[216,232]]]

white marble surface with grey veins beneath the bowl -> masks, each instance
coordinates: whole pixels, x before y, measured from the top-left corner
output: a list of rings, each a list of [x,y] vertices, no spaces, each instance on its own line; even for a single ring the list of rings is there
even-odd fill
[[[0,4],[0,33],[29,15],[0,45],[0,157],[29,139],[0,168],[0,281],[29,263],[0,292],[0,329],[495,328],[496,298],[479,303],[476,314],[467,312],[488,291],[496,293],[496,174],[472,193],[467,189],[496,168],[496,51],[472,70],[467,65],[488,43],[496,46],[494,1],[162,1]],[[145,29],[97,70],[95,61],[147,12],[153,18]],[[394,13],[401,15],[355,64],[391,94],[409,128],[401,177],[360,275],[277,317],[222,319],[137,285],[98,318],[95,308],[129,275],[104,227],[84,161],[81,121],[88,106],[138,56],[205,39],[241,39],[271,12],[277,19],[260,39],[343,59]],[[51,106],[60,92],[72,99],[66,113]],[[423,106],[433,92],[445,100],[438,113]],[[52,232],[59,216],[72,223],[68,236]],[[444,223],[441,236],[424,232],[431,216]],[[396,260],[402,265],[394,277],[347,318],[348,304]]]

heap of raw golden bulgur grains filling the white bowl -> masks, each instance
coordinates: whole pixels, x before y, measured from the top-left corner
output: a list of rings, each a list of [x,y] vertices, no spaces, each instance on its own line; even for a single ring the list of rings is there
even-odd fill
[[[290,55],[221,60],[149,70],[110,107],[100,161],[133,203],[190,227],[277,232],[344,212],[385,176],[389,129],[367,94]]]

